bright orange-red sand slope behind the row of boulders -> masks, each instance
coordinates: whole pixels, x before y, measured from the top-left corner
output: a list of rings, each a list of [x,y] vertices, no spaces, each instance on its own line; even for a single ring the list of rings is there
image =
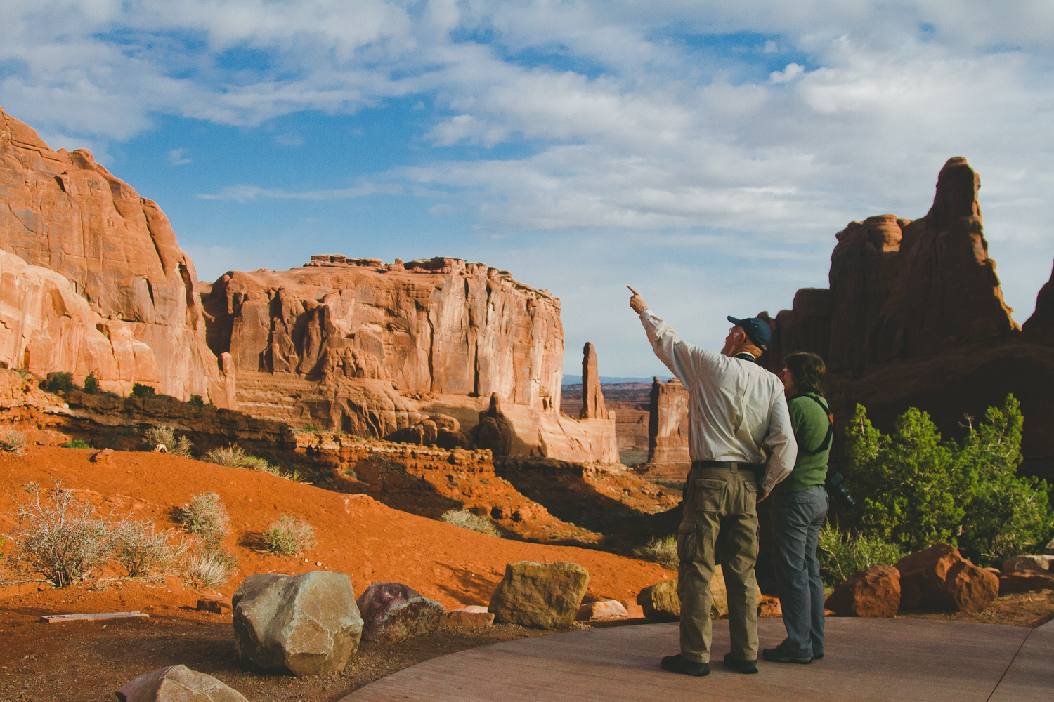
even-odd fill
[[[447,608],[486,605],[505,564],[518,560],[572,561],[589,570],[587,600],[636,597],[642,587],[672,577],[659,565],[571,546],[549,546],[488,537],[387,507],[365,495],[345,495],[293,483],[265,473],[150,453],[116,452],[93,463],[91,449],[32,447],[24,456],[0,455],[0,531],[14,526],[14,499],[26,483],[52,479],[87,497],[113,519],[134,515],[175,525],[172,510],[194,495],[215,492],[231,518],[223,546],[238,558],[238,571],[220,588],[230,597],[255,573],[335,570],[351,576],[356,593],[371,582],[402,582]],[[258,553],[252,543],[284,513],[307,519],[317,545],[300,557]],[[7,550],[7,549],[5,549]],[[320,563],[320,565],[319,565]],[[170,577],[163,585],[125,582],[102,593],[82,587],[35,585],[0,588],[0,598],[21,595],[25,604],[56,614],[113,611],[148,606],[193,606],[197,593]]]

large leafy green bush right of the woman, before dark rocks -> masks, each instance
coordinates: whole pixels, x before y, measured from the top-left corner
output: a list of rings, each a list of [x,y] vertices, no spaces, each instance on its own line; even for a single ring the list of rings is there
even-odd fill
[[[1054,522],[1047,483],[1016,476],[1023,421],[1011,395],[976,427],[970,420],[961,442],[941,441],[923,412],[909,409],[886,436],[857,405],[846,442],[854,526],[909,553],[948,542],[980,565],[1045,541]]]

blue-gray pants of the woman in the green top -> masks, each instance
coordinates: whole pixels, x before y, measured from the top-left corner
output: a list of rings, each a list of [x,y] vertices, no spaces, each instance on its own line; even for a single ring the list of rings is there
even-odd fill
[[[827,502],[823,485],[773,495],[776,582],[787,629],[783,645],[801,658],[823,655],[823,581],[816,544]]]

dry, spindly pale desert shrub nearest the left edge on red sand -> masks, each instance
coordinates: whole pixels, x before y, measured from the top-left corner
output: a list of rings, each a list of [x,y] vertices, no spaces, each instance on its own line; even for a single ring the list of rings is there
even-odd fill
[[[31,484],[26,492],[31,498],[25,503],[16,500],[17,526],[7,535],[15,544],[7,559],[16,571],[40,574],[55,586],[66,587],[110,560],[119,530],[96,517],[91,503],[58,483],[44,493]]]

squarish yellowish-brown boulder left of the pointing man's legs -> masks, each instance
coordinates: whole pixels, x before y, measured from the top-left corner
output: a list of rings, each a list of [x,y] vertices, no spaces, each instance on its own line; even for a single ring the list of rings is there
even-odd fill
[[[570,626],[589,586],[589,571],[578,563],[516,561],[490,598],[488,611],[502,624],[541,629]]]

